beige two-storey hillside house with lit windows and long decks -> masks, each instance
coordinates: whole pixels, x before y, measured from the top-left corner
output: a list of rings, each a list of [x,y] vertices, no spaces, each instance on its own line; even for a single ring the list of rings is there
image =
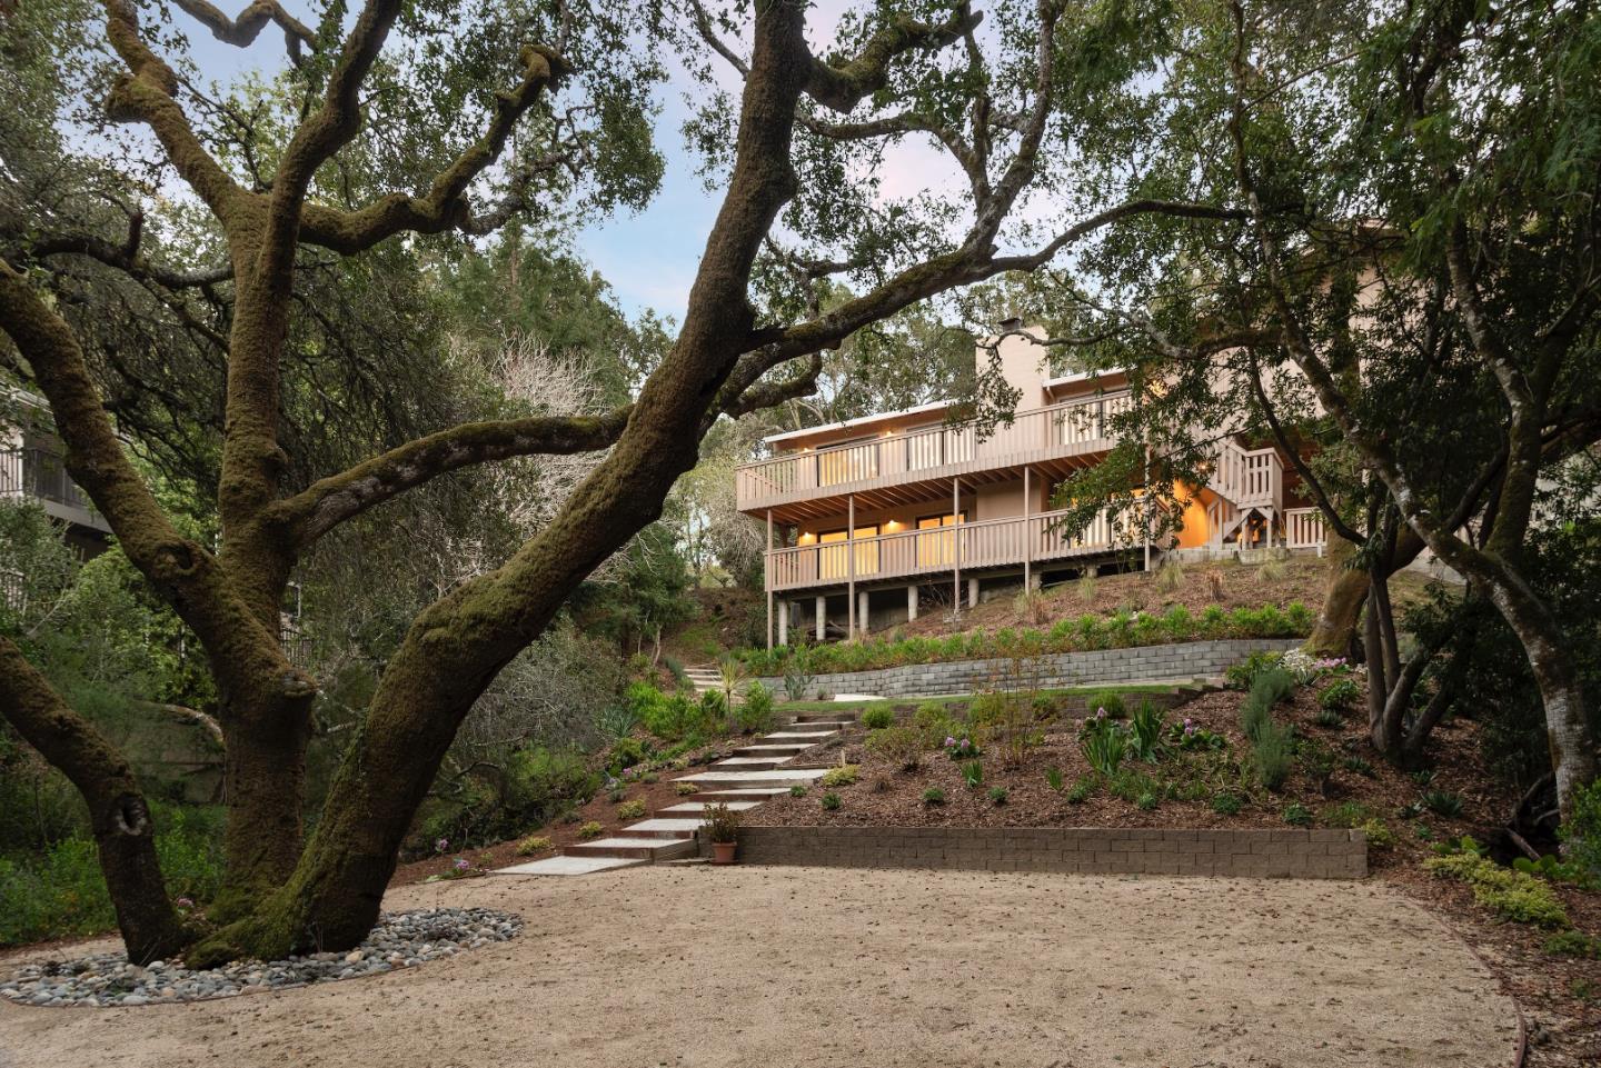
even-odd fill
[[[1015,320],[1004,323],[1015,330]],[[852,637],[961,612],[986,592],[1085,572],[1150,568],[1167,552],[1321,551],[1322,519],[1274,448],[1228,439],[1206,487],[1185,488],[1182,527],[1154,544],[1142,509],[1069,535],[1055,488],[1116,444],[1134,404],[1121,371],[1050,376],[1041,347],[1010,333],[997,354],[1020,394],[1010,426],[980,437],[948,423],[951,402],[773,434],[773,455],[735,472],[740,512],[767,524],[768,645],[792,631]],[[773,623],[776,621],[776,629]]]

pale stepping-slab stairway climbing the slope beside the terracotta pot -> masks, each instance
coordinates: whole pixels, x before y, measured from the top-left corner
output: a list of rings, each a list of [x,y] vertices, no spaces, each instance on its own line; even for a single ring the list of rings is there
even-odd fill
[[[857,709],[834,714],[796,716],[788,725],[741,746],[703,772],[679,775],[676,781],[695,783],[700,791],[647,820],[632,823],[613,837],[576,842],[560,857],[500,868],[498,876],[576,876],[632,865],[684,860],[700,853],[701,818],[714,804],[749,812],[764,801],[809,785],[828,773],[820,767],[786,767],[807,749],[833,738],[855,722]]]

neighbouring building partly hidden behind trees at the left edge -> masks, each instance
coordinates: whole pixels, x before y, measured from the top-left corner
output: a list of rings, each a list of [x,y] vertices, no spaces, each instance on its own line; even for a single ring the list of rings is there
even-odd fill
[[[11,418],[0,420],[0,498],[35,501],[62,524],[67,544],[85,559],[104,552],[110,525],[67,476],[50,407],[21,391],[11,391],[6,400]]]

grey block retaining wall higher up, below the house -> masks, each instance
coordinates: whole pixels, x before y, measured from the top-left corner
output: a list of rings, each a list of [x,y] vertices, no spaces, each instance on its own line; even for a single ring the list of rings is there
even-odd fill
[[[1153,682],[1166,679],[1209,679],[1255,652],[1284,652],[1302,644],[1298,637],[1228,637],[1172,645],[1134,648],[1093,648],[1077,653],[1047,653],[1039,658],[1041,685],[1068,687],[1100,682]],[[940,697],[972,693],[1012,669],[1010,660],[953,660],[937,664],[876,668],[813,676],[807,697],[826,693],[873,693],[877,697]],[[784,693],[783,677],[760,681],[768,690]]]

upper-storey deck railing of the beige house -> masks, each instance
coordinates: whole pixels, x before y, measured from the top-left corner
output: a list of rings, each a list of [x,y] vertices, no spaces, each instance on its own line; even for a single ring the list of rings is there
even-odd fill
[[[740,508],[826,496],[847,488],[892,485],[964,469],[1023,463],[1045,455],[1111,447],[1113,416],[1134,404],[1127,391],[1020,412],[978,440],[973,426],[932,426],[873,440],[829,445],[741,464],[735,471]]]

